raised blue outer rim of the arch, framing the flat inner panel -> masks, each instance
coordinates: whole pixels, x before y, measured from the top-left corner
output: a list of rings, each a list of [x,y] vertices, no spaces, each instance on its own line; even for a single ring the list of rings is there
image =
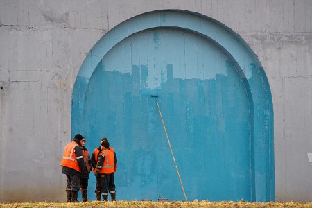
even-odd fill
[[[142,31],[176,28],[209,40],[227,54],[245,85],[250,109],[251,184],[250,201],[275,200],[273,109],[266,74],[248,44],[220,22],[192,12],[162,10],[148,12],[119,24],[106,33],[83,62],[73,87],[71,132],[87,134],[85,112],[89,81],[107,53],[121,41]],[[88,135],[86,135],[88,137]],[[101,138],[96,138],[99,140]],[[116,149],[117,148],[116,144]],[[89,146],[93,149],[95,146]],[[141,199],[138,199],[141,200]]]

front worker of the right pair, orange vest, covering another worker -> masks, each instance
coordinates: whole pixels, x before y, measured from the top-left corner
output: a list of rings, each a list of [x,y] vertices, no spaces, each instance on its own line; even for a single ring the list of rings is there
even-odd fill
[[[108,201],[108,185],[110,184],[110,176],[114,173],[114,153],[109,149],[110,143],[103,140],[101,143],[101,153],[98,155],[98,163],[96,164],[96,173],[101,178],[101,195],[103,201]]]

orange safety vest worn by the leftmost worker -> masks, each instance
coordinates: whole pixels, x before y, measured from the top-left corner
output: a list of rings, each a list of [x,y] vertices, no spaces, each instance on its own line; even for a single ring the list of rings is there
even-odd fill
[[[77,159],[83,158],[83,156],[76,158],[75,154],[76,146],[78,146],[78,144],[75,141],[71,141],[71,143],[65,146],[63,159],[60,165],[81,172]]]

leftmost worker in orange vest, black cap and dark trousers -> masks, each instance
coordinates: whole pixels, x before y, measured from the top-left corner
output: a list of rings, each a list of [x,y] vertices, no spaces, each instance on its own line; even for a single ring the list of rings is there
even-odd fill
[[[75,135],[73,141],[65,146],[64,154],[60,165],[62,174],[66,175],[67,202],[78,202],[78,191],[80,188],[80,174],[87,172],[80,141],[83,136]]]

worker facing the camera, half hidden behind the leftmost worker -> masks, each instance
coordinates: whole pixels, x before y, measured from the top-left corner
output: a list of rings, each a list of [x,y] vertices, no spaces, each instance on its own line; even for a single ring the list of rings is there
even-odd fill
[[[80,140],[81,143],[81,150],[83,153],[83,159],[85,161],[85,166],[87,168],[87,173],[81,174],[80,175],[80,191],[81,191],[81,197],[83,199],[83,202],[88,201],[88,196],[87,196],[87,188],[88,188],[88,180],[89,180],[89,174],[91,171],[91,164],[90,164],[90,155],[89,151],[87,148],[85,148],[85,137],[83,137],[82,140]]]

